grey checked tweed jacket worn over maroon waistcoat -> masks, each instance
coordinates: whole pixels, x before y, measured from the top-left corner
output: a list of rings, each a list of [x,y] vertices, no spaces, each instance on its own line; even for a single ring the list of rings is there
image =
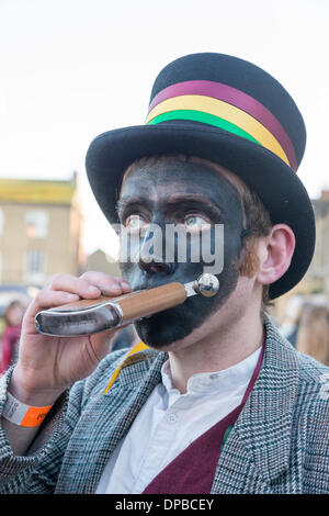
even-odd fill
[[[329,369],[265,324],[263,363],[222,451],[212,493],[329,493]],[[95,492],[167,358],[141,351],[103,394],[125,352],[110,354],[72,385],[29,456],[14,457],[0,430],[1,493]],[[0,413],[9,377],[1,380]]]

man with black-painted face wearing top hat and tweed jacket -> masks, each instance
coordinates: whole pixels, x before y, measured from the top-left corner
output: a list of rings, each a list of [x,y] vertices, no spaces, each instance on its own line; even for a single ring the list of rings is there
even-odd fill
[[[304,147],[284,88],[211,53],[159,74],[145,125],[92,142],[87,171],[121,225],[123,278],[59,274],[30,305],[19,361],[1,380],[1,492],[329,492],[329,370],[296,352],[264,311],[314,253],[296,175]],[[149,259],[155,227],[162,247]],[[41,310],[195,280],[209,266],[194,259],[195,235],[220,263],[219,292],[136,321],[133,349],[109,354],[113,332],[35,328]]]

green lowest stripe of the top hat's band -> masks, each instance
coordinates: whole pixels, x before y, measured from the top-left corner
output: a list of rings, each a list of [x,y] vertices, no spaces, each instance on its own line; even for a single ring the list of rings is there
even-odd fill
[[[168,120],[191,120],[193,122],[202,122],[203,124],[213,125],[215,127],[223,128],[229,133],[234,133],[237,136],[241,136],[242,138],[250,139],[258,145],[260,143],[254,139],[250,134],[246,133],[246,131],[241,130],[237,125],[232,124],[231,122],[227,122],[227,120],[220,119],[219,116],[215,116],[214,114],[204,113],[203,111],[193,111],[193,110],[175,110],[169,111],[168,113],[159,114],[150,120],[147,125],[155,125],[161,122],[166,122]]]

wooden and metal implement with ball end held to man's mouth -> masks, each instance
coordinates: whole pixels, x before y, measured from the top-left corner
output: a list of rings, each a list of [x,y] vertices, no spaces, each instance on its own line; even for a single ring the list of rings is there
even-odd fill
[[[191,295],[202,294],[211,298],[218,290],[218,279],[205,273],[185,284],[172,282],[116,298],[80,300],[56,309],[43,310],[35,315],[35,326],[44,335],[58,337],[92,335],[118,328],[182,304]]]

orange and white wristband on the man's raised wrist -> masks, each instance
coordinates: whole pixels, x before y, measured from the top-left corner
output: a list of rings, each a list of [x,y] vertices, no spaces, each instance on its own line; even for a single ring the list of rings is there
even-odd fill
[[[25,405],[8,392],[2,416],[14,425],[35,427],[42,424],[52,406]]]

